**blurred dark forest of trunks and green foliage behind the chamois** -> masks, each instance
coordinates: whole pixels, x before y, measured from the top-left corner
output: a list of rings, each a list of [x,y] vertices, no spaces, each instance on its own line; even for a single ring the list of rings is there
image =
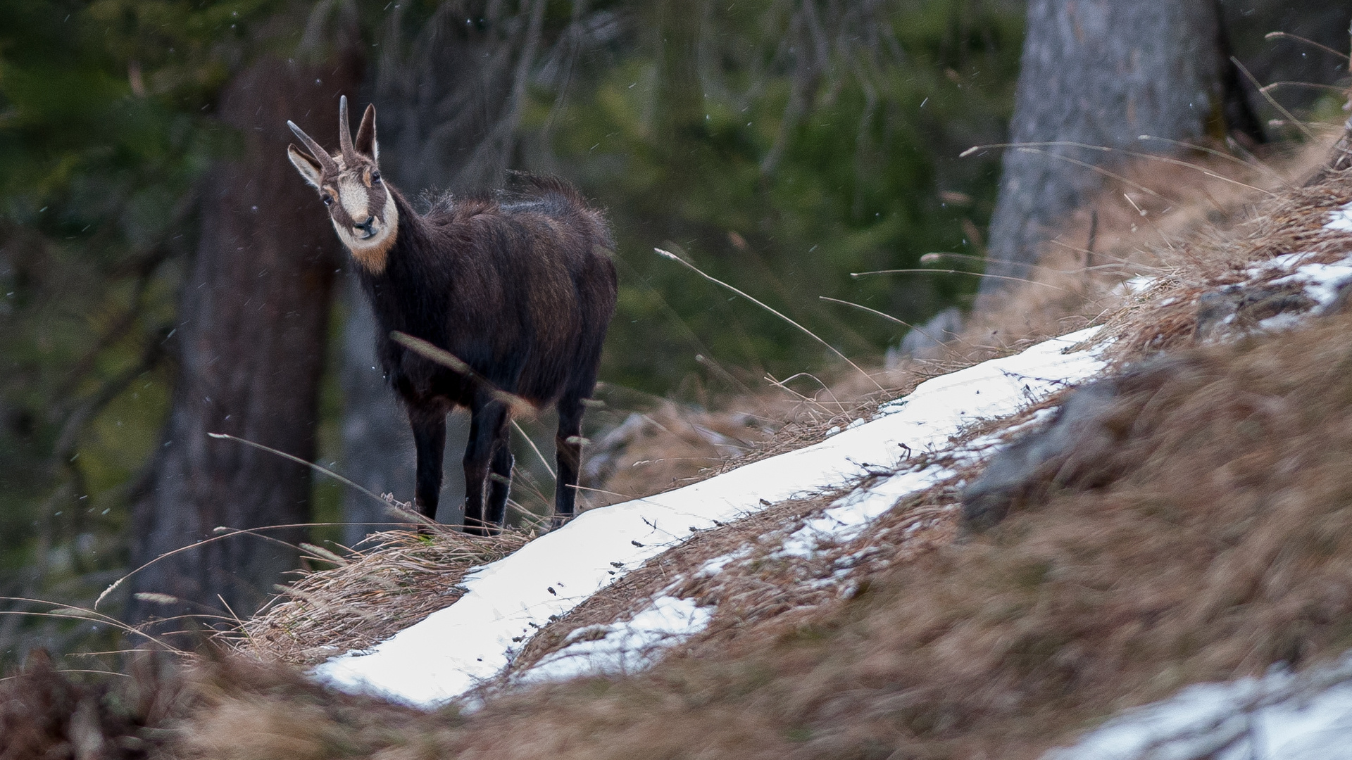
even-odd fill
[[[1343,50],[1345,11],[1220,5],[1234,53],[1261,81],[1341,76],[1334,55],[1263,35],[1284,30]],[[653,247],[875,366],[906,329],[818,296],[913,323],[971,308],[975,275],[850,273],[918,269],[930,252],[986,253],[1000,156],[959,154],[1006,139],[1026,11],[1013,0],[0,8],[0,595],[72,606],[92,604],[164,550],[154,537],[165,515],[192,515],[200,537],[243,526],[231,517],[249,510],[270,515],[251,525],[379,519],[341,485],[238,444],[208,444],[208,431],[408,498],[411,475],[399,471],[410,467],[408,434],[369,371],[370,326],[345,254],[285,162],[287,119],[335,145],[338,96],[357,110],[373,101],[384,173],[410,196],[500,188],[514,169],[579,184],[608,210],[618,241],[607,403],[715,406],[764,387],[765,373],[829,372],[838,360]],[[1334,103],[1317,88],[1274,93],[1298,114]],[[942,266],[980,272],[963,261]],[[238,308],[268,308],[226,319],[234,296]],[[262,358],[239,353],[264,343]],[[185,368],[222,373],[212,387],[224,395],[181,381]],[[181,411],[189,395],[206,406]],[[273,403],[254,403],[262,398]],[[592,431],[614,422],[594,417]],[[193,450],[207,446],[220,448]],[[228,460],[226,475],[208,483],[193,469],[203,456]],[[274,469],[264,477],[260,468]],[[452,458],[448,473],[457,469]],[[214,513],[200,502],[247,503]],[[270,536],[352,542],[360,533]],[[253,548],[228,548],[243,544]],[[185,554],[128,590],[173,591],[192,567],[234,563],[262,568],[266,591],[269,573],[295,564],[262,540],[216,546],[226,554]],[[257,603],[257,590],[235,594],[219,579],[184,583],[197,598],[235,600],[239,614]],[[100,610],[150,614],[126,604],[114,595]],[[0,663],[32,642],[65,652],[111,648],[115,637],[0,615]]]

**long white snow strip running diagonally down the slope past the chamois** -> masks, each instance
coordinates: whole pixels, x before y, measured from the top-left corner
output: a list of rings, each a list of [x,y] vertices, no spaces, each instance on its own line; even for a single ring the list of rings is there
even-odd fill
[[[323,663],[329,683],[415,705],[438,705],[500,672],[533,630],[626,569],[714,527],[781,502],[846,484],[869,467],[895,469],[910,452],[937,450],[963,426],[1005,417],[1099,372],[1095,350],[1064,353],[1096,327],[1041,342],[918,385],[865,425],[645,499],[583,513],[560,530],[485,565],[465,594],[369,650]],[[909,450],[907,450],[909,449]],[[898,494],[899,495],[899,494]],[[894,499],[895,503],[895,499]]]

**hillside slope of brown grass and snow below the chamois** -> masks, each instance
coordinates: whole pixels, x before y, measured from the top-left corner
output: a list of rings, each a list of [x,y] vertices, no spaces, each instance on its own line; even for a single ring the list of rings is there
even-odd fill
[[[251,659],[191,669],[192,698],[154,725],[203,759],[1341,752],[1352,170],[1253,192],[1225,231],[1145,208],[1126,245],[1148,233],[1153,258],[1094,326],[481,568],[491,548],[408,569],[450,603],[318,668],[377,694],[270,661],[258,637]],[[1048,283],[1071,293],[1063,275]],[[1057,427],[1007,517],[964,523],[988,462]],[[311,577],[372,572],[341,561]],[[388,577],[350,615],[397,603]],[[297,594],[291,622],[318,614]],[[0,688],[38,688],[16,683]]]

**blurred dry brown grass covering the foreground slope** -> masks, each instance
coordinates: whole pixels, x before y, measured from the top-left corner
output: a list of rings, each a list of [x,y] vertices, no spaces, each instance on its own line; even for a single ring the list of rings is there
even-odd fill
[[[1119,402],[1136,423],[1110,485],[961,544],[938,521],[849,599],[748,617],[638,676],[500,696],[427,741],[466,757],[1033,757],[1186,683],[1338,653],[1349,329],[1186,352]]]

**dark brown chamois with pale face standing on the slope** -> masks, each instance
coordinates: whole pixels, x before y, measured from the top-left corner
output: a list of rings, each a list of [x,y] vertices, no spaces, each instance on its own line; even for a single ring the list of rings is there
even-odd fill
[[[527,177],[525,192],[448,196],[422,215],[380,177],[373,105],[353,141],[347,97],[339,100],[334,156],[287,126],[308,150],[291,145],[287,156],[319,191],[370,298],[376,353],[418,449],[418,510],[435,519],[446,414],[468,407],[465,531],[484,536],[503,525],[508,422],[523,399],[558,407],[553,521],[571,518],[584,400],[615,312],[614,243],[603,214],[564,180]],[[399,333],[423,341],[423,349],[411,350],[418,341]],[[433,361],[437,349],[452,356]]]

